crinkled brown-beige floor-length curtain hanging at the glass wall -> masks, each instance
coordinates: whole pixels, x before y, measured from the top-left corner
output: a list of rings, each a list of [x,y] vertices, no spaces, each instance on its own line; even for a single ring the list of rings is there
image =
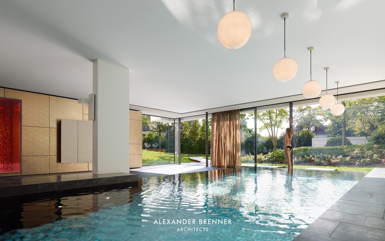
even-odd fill
[[[211,165],[241,167],[241,132],[239,110],[211,115]]]

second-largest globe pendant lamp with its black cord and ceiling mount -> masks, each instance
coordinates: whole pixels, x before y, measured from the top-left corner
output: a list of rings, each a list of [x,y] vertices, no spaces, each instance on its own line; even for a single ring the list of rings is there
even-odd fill
[[[289,18],[289,13],[282,13],[281,19],[284,21],[284,56],[278,60],[273,67],[274,77],[281,82],[286,82],[294,78],[298,71],[297,62],[290,57],[286,57],[286,19]]]

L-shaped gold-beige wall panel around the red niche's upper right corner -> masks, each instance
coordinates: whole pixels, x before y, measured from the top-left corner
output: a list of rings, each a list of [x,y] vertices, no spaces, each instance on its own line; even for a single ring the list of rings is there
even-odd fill
[[[49,127],[50,96],[5,89],[5,97],[22,100],[23,126]]]

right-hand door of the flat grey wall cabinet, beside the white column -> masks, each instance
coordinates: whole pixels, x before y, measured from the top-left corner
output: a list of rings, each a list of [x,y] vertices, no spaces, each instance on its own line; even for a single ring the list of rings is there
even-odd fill
[[[92,162],[92,122],[78,121],[77,162]]]

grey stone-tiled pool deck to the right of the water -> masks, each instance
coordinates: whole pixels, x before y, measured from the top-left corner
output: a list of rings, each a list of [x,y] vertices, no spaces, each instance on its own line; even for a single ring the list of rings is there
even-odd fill
[[[375,168],[294,241],[384,241],[385,168]]]

